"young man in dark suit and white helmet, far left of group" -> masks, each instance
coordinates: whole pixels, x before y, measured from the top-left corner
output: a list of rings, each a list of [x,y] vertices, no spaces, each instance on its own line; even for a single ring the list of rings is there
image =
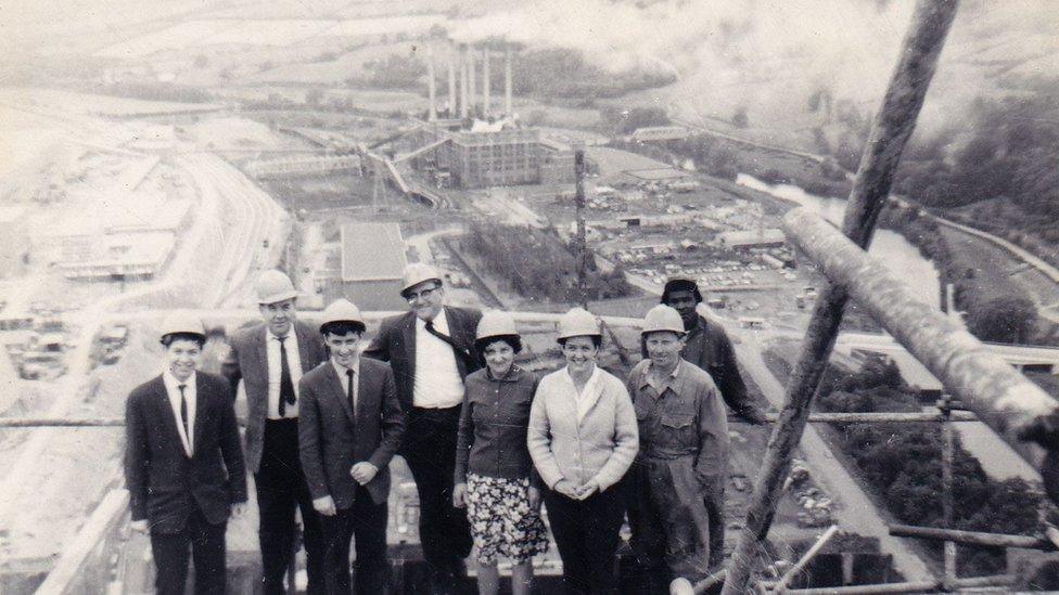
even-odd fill
[[[155,590],[183,595],[188,549],[195,593],[225,593],[225,531],[242,514],[246,476],[231,389],[197,372],[202,322],[174,314],[163,324],[166,367],[138,386],[125,409],[125,482],[135,531],[151,532]]]

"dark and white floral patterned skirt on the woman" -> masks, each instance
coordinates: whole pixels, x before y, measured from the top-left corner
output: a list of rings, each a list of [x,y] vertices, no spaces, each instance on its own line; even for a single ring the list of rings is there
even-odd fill
[[[519,564],[548,551],[545,523],[530,506],[528,479],[468,474],[467,518],[481,564],[493,564],[498,556]]]

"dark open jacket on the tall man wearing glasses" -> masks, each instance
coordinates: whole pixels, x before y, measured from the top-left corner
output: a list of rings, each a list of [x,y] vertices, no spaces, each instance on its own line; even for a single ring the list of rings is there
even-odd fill
[[[471,358],[456,357],[460,378],[467,378],[471,372],[482,368],[482,360],[474,349],[474,331],[482,319],[482,312],[450,306],[446,306],[444,312],[448,316],[448,331],[452,340],[472,354]],[[416,387],[416,313],[407,312],[382,321],[379,334],[363,354],[390,362],[397,380],[397,399],[400,406],[409,411]]]

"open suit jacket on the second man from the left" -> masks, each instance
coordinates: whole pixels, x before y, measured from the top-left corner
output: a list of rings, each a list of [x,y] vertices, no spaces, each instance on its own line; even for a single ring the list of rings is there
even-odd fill
[[[298,341],[298,359],[302,374],[328,359],[320,332],[299,321],[294,321],[294,334]],[[221,365],[221,373],[231,383],[232,394],[243,380],[246,391],[246,465],[256,474],[261,465],[265,441],[265,418],[268,414],[268,351],[265,348],[267,327],[259,323],[239,331],[231,340],[231,351]],[[301,411],[301,405],[298,406]]]

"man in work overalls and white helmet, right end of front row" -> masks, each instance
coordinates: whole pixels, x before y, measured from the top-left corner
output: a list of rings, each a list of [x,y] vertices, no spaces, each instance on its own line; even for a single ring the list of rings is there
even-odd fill
[[[643,319],[642,336],[648,359],[628,378],[640,431],[629,525],[649,583],[645,592],[664,593],[675,578],[694,583],[710,572],[705,501],[724,489],[728,422],[710,374],[680,358],[680,314],[655,306]],[[724,527],[718,520],[715,526]]]

